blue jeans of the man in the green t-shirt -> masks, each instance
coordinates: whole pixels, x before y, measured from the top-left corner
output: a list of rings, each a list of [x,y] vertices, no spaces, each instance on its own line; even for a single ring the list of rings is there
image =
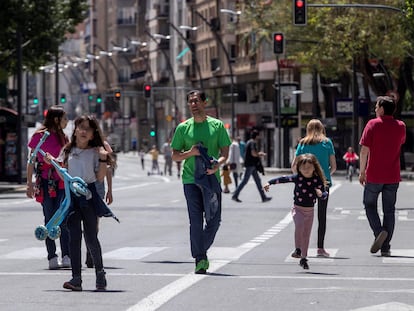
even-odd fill
[[[204,226],[204,204],[201,189],[195,184],[184,184],[190,219],[191,255],[196,261],[207,259],[207,251],[214,242],[221,222],[221,192],[218,193],[218,210]]]

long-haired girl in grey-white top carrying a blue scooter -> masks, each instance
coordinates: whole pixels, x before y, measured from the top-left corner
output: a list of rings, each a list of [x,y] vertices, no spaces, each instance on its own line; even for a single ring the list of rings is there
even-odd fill
[[[49,158],[49,161],[52,158]],[[70,254],[72,260],[72,279],[63,288],[82,291],[81,242],[82,223],[87,247],[95,266],[96,289],[105,290],[107,286],[102,262],[102,249],[98,240],[97,217],[100,206],[105,205],[96,191],[95,182],[103,181],[112,159],[104,148],[104,140],[98,122],[91,116],[81,116],[75,120],[71,141],[63,148],[59,162],[67,167],[68,174],[82,178],[92,197],[72,194],[72,205],[68,216],[70,233]]]

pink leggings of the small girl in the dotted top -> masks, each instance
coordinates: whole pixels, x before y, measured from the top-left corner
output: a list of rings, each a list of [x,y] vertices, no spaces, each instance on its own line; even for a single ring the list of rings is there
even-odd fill
[[[294,205],[292,217],[295,223],[295,247],[301,250],[302,258],[308,256],[309,239],[313,224],[313,207]]]

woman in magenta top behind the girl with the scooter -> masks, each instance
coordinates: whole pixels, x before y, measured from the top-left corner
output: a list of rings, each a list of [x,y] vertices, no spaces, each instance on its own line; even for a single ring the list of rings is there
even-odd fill
[[[43,134],[48,131],[50,136],[42,145],[42,150],[57,157],[62,147],[68,142],[68,138],[63,132],[68,124],[68,118],[61,106],[52,106],[47,110],[43,125],[33,134],[29,141],[30,154],[37,146]],[[36,167],[35,167],[36,166]],[[55,212],[59,209],[60,204],[65,196],[63,180],[59,177],[53,165],[45,163],[43,156],[37,155],[35,166],[27,164],[27,190],[26,195],[29,198],[36,198],[43,208],[44,222],[47,224]],[[32,182],[33,172],[36,173],[36,183]],[[49,269],[70,268],[69,255],[69,232],[66,227],[66,221],[60,225],[60,249],[62,261],[59,264],[56,254],[56,243],[49,237],[46,238],[47,259]]]

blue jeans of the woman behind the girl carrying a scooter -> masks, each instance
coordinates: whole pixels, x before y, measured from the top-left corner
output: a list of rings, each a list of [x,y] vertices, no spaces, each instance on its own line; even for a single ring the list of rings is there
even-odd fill
[[[57,184],[57,182],[56,182]],[[41,187],[43,189],[43,215],[45,216],[45,225],[49,222],[49,220],[53,217],[56,211],[60,207],[60,203],[62,203],[63,198],[65,197],[65,190],[64,189],[56,189],[56,196],[50,197],[49,189],[48,189],[48,180],[43,179],[41,181]],[[60,224],[60,249],[62,251],[62,257],[68,255],[69,256],[69,231],[66,225],[66,219]],[[56,255],[56,243],[54,240],[50,238],[46,238],[46,250],[47,250],[47,259],[50,260]]]

